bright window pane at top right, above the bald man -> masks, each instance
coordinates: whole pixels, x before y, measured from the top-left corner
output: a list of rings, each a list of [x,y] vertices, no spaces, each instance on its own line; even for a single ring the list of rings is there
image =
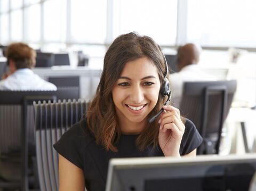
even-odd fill
[[[256,1],[188,1],[187,39],[203,46],[255,47]]]

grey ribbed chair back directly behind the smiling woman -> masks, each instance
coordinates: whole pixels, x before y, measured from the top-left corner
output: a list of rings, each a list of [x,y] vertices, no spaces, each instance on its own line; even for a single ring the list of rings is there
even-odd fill
[[[83,117],[86,102],[34,103],[36,158],[41,191],[59,190],[58,153],[53,149],[61,135]]]

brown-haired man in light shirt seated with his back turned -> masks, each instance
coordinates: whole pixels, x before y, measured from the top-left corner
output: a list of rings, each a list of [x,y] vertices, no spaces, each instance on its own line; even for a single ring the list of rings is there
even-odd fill
[[[0,90],[57,90],[50,82],[31,70],[36,65],[36,52],[25,43],[13,43],[6,49],[9,72],[0,81]]]

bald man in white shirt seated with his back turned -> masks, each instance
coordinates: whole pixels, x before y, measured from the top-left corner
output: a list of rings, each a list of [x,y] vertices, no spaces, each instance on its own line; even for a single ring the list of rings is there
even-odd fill
[[[170,74],[172,103],[179,108],[183,83],[186,81],[215,81],[216,78],[201,70],[198,65],[200,50],[194,44],[186,44],[178,49],[177,68],[179,72]]]

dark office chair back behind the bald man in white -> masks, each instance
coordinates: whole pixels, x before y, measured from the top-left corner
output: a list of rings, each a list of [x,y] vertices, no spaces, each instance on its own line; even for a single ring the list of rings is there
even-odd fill
[[[204,139],[197,154],[218,154],[223,122],[227,118],[237,82],[185,82],[180,113],[193,121]]]

